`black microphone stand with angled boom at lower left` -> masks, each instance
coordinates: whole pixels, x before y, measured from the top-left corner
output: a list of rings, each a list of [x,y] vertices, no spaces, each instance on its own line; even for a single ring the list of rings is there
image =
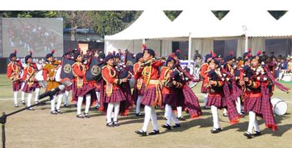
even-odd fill
[[[19,113],[21,111],[24,111],[26,109],[29,109],[30,107],[35,107],[35,106],[39,106],[39,104],[43,104],[46,103],[47,101],[51,101],[53,100],[53,95],[49,96],[50,98],[46,99],[46,100],[42,100],[41,102],[39,102],[38,104],[33,104],[30,105],[29,107],[25,107],[24,109],[19,109],[17,111],[13,111],[12,113],[8,113],[6,114],[5,112],[2,113],[2,116],[0,117],[0,123],[1,123],[1,127],[2,127],[2,147],[5,148],[5,142],[6,142],[6,136],[5,136],[5,124],[6,124],[6,119],[10,116],[10,115],[14,115],[16,113]]]

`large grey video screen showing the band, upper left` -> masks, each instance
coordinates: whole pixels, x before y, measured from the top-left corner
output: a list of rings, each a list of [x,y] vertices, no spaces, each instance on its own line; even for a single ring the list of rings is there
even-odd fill
[[[33,50],[34,57],[44,57],[55,50],[55,57],[63,54],[62,18],[3,18],[3,57],[15,49],[24,57]]]

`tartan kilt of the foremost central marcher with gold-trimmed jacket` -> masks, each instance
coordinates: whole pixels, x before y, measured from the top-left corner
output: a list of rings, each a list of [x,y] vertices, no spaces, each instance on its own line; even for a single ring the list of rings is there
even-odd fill
[[[161,95],[161,94],[160,94]],[[141,104],[152,106],[152,104],[157,104],[156,101],[156,87],[145,89],[143,98],[141,99]]]

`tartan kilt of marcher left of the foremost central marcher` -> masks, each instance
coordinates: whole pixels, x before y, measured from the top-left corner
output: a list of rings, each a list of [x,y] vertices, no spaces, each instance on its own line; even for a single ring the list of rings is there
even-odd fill
[[[106,103],[115,103],[115,102],[121,102],[124,100],[127,100],[124,93],[122,92],[122,89],[113,89],[113,92],[111,92],[111,96],[107,96],[106,89],[104,89],[105,96],[105,102]]]

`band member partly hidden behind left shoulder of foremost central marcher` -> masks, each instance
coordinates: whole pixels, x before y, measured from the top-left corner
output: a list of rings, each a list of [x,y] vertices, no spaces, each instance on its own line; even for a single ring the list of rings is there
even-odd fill
[[[142,68],[140,68],[143,63],[143,53],[136,54],[136,64],[134,64],[134,78],[135,86],[133,91],[133,99],[136,103],[136,116],[142,116],[140,112],[141,99],[143,97],[143,92],[145,91],[145,84],[143,84]]]

